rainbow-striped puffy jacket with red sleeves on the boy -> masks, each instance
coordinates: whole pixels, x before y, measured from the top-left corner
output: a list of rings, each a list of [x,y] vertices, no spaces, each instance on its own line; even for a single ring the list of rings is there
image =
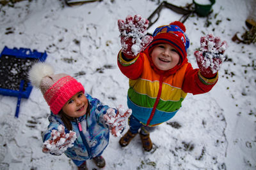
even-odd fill
[[[154,66],[148,50],[129,61],[119,52],[118,67],[129,78],[127,105],[132,115],[148,126],[172,118],[188,92],[209,92],[218,81],[218,74],[213,79],[204,78],[187,58],[173,69],[161,71]]]

